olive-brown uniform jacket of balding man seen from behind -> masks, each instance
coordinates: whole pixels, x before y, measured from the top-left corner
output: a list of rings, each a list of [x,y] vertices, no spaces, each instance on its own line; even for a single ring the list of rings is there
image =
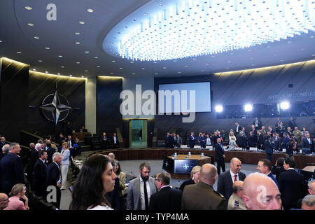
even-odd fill
[[[226,210],[227,203],[223,195],[202,181],[184,188],[181,197],[182,210]]]

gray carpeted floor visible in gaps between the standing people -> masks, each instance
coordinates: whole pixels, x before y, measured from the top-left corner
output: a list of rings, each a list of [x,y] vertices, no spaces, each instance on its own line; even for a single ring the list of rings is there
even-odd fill
[[[97,152],[92,152],[92,153],[97,153]],[[91,151],[83,152],[78,159],[85,160],[85,158],[89,155],[91,155]],[[163,160],[122,160],[120,161],[120,167],[123,170],[123,172],[126,174],[127,179],[132,178],[132,176],[139,176],[139,165],[141,164],[141,162],[148,162],[151,165],[151,176],[164,171],[162,169]],[[243,172],[247,176],[248,174],[257,172],[256,168],[257,168],[257,165],[243,164],[241,167],[241,172]],[[226,170],[230,169],[230,163],[225,162],[225,169]],[[74,181],[74,178],[72,175],[72,170],[69,169],[68,186],[71,186],[71,183],[73,181]],[[171,186],[173,186],[173,188],[179,188],[179,186],[181,186],[181,183],[183,181],[184,180],[182,179],[171,179]],[[217,181],[216,183],[214,183],[214,189],[215,190],[217,189]],[[60,209],[68,210],[70,203],[71,203],[70,190],[62,190],[62,200],[61,200]]]

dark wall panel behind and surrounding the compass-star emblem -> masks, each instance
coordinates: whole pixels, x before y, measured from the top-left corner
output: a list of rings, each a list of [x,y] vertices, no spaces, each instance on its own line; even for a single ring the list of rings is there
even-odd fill
[[[57,91],[69,101],[69,106],[78,108],[71,110],[69,116],[57,126],[47,120],[38,108],[28,109],[28,126],[27,131],[31,133],[38,132],[38,135],[59,134],[64,132],[64,123],[70,121],[73,129],[80,129],[85,125],[85,79],[67,78],[63,76],[46,76],[45,74],[30,72],[29,73],[29,92],[28,105],[40,106],[43,99],[48,94]],[[64,112],[63,112],[64,113]]]

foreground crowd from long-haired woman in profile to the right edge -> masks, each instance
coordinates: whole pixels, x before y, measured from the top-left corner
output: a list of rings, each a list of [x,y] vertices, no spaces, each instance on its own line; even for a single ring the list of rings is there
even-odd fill
[[[93,155],[84,163],[73,186],[71,210],[116,209],[111,196],[116,186],[123,183],[116,181],[120,180],[117,162],[109,157]],[[152,177],[150,165],[143,162],[139,165],[139,176],[129,183],[125,209],[315,210],[315,181],[309,181],[307,189],[304,176],[294,167],[293,157],[279,158],[274,167],[269,160],[262,159],[258,161],[258,172],[246,176],[241,172],[241,161],[232,158],[230,169],[220,175],[209,163],[193,167],[191,179],[177,190],[170,186],[169,173],[160,172]],[[214,190],[216,181],[218,189]]]

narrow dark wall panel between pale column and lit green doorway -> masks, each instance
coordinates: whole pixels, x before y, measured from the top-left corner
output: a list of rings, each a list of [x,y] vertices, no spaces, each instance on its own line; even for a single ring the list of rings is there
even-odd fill
[[[122,78],[97,77],[97,133],[106,132],[111,136],[117,127],[123,133],[123,116],[120,113],[122,91]]]

